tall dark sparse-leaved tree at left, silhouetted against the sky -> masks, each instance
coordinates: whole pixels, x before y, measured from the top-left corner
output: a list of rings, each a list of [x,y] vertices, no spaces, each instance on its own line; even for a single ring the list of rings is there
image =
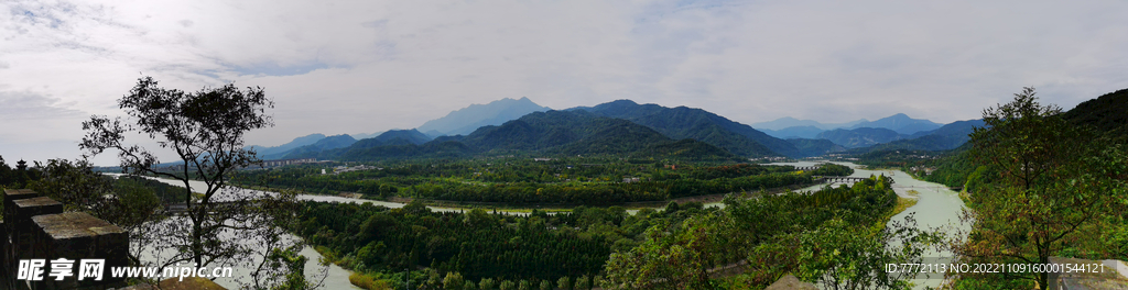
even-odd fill
[[[255,230],[258,226],[275,224],[255,224],[264,212],[258,209],[259,201],[274,197],[236,190],[227,183],[231,172],[258,162],[253,151],[244,148],[245,134],[273,126],[266,109],[274,105],[264,90],[239,90],[235,84],[226,84],[184,92],[160,88],[146,76],[117,105],[127,117],[94,116],[83,121],[86,136],[79,147],[87,157],[116,151],[125,173],[169,178],[184,184],[180,200],[186,223],[165,223],[160,230],[147,233],[160,236],[162,248],[178,251],[167,261],[157,262],[157,266],[187,263],[204,268],[250,261],[254,250],[240,241],[266,238],[246,234],[261,233]],[[171,171],[157,169],[153,166],[160,162],[157,156],[164,153],[127,142],[126,136],[133,135],[155,141],[183,163]],[[201,181],[203,187],[191,187],[192,180]]]

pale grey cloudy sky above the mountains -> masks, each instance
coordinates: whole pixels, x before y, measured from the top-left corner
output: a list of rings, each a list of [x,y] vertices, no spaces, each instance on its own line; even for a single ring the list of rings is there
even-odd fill
[[[1068,109],[1128,88],[1125,15],[1121,0],[6,0],[0,156],[79,157],[82,120],[123,116],[116,100],[142,75],[185,91],[264,88],[275,126],[247,144],[267,146],[521,97],[743,124],[951,123],[1023,87]]]

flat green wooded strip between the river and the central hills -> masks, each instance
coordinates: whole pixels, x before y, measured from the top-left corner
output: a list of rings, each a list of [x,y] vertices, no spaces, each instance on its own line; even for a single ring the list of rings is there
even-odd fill
[[[812,175],[853,173],[852,169],[835,164],[800,172],[792,166],[747,163],[667,164],[592,158],[462,160],[379,166],[384,165],[334,174],[321,174],[316,166],[267,169],[240,172],[239,180],[316,193],[358,192],[376,199],[590,206],[759,191],[810,184]]]

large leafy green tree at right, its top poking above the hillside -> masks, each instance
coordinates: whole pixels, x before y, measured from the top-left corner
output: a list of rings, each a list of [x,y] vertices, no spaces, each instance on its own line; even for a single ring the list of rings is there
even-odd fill
[[[976,185],[975,207],[964,209],[963,219],[972,224],[968,241],[957,246],[964,262],[1049,263],[1103,212],[1120,210],[1113,208],[1120,205],[1116,192],[1122,192],[1116,158],[1123,152],[1060,112],[1040,105],[1031,88],[984,110],[986,126],[971,134],[970,153],[976,165],[997,175],[989,185]],[[1047,282],[1046,273],[1002,277]]]

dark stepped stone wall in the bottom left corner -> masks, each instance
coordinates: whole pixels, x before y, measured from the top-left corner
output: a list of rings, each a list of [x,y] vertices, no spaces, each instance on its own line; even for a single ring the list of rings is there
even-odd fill
[[[125,286],[111,269],[129,265],[129,233],[86,212],[63,212],[51,198],[27,190],[5,190],[3,233],[0,235],[0,290],[2,289],[113,289]],[[51,261],[65,259],[72,275],[50,277]],[[19,262],[45,260],[42,281],[16,280]],[[79,280],[80,261],[103,260],[102,280]]]

